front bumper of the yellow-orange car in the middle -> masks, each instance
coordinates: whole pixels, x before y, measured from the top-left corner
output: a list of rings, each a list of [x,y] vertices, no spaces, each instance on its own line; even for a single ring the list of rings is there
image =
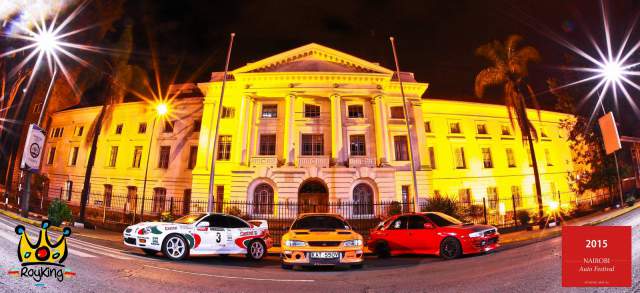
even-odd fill
[[[337,252],[335,258],[314,258],[313,252]],[[302,266],[335,266],[335,265],[358,265],[364,261],[364,249],[358,247],[354,249],[336,250],[308,250],[300,248],[283,247],[280,258],[283,264]]]

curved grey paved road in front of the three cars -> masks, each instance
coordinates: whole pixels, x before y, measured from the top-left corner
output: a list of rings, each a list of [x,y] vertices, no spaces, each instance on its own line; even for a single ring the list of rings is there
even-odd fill
[[[561,288],[561,238],[503,247],[489,255],[443,261],[408,256],[368,257],[361,270],[284,271],[278,259],[207,257],[171,262],[105,241],[72,237],[65,261],[77,275],[63,282],[9,276],[19,268],[17,223],[0,216],[0,292],[640,292],[640,209],[603,225],[633,228],[633,288]],[[27,227],[34,236],[39,231]]]

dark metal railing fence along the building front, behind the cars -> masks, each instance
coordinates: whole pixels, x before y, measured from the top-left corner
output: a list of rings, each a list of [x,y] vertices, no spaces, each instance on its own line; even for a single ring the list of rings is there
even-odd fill
[[[30,209],[33,212],[46,215],[49,204],[58,199],[66,202],[71,207],[73,216],[77,218],[80,210],[79,198],[79,192],[68,193],[64,190],[56,198],[33,196],[30,200]],[[433,199],[421,200],[417,205],[418,211],[443,211],[441,206],[437,205],[438,202]],[[543,196],[545,213],[548,213],[552,207],[565,213],[575,210],[589,211],[610,205],[611,202],[612,197],[606,193],[580,198],[568,195],[561,196],[561,194]],[[2,203],[6,203],[4,204],[5,208],[17,210],[19,199],[17,195],[5,195]],[[141,221],[168,221],[190,213],[206,212],[207,205],[206,200],[183,200],[183,198],[168,195],[145,198],[143,201],[142,198],[127,195],[91,194],[87,201],[85,217],[95,225],[119,230],[126,225]],[[512,195],[508,198],[481,198],[479,201],[453,200],[445,208],[448,208],[449,213],[463,221],[490,224],[499,228],[520,226],[522,223],[519,222],[518,215],[523,211],[526,211],[532,219],[535,219],[538,214],[535,196],[516,197]],[[270,233],[276,244],[279,244],[282,235],[301,213],[330,212],[342,215],[355,231],[367,238],[369,231],[390,215],[413,212],[414,210],[414,203],[398,201],[333,201],[321,204],[295,201],[255,203],[231,200],[213,202],[213,211],[215,212],[233,214],[246,220],[267,220]]]

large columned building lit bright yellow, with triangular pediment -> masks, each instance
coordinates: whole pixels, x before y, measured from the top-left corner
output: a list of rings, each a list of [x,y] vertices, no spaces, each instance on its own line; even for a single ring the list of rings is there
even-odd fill
[[[173,90],[201,92],[203,98],[178,99],[173,130],[152,145],[147,196],[206,201],[209,166],[216,156],[216,200],[249,202],[323,202],[413,200],[398,77],[392,70],[354,56],[309,44],[249,63],[230,72],[220,120],[218,148],[212,133],[222,74],[211,81],[176,85]],[[402,73],[412,125],[418,200],[451,196],[462,201],[523,198],[535,207],[533,169],[519,129],[513,129],[502,105],[423,99],[428,84]],[[176,106],[174,106],[176,107]],[[95,120],[99,107],[53,115],[43,159],[51,179],[49,196],[72,181],[79,199],[89,143],[72,136]],[[142,102],[115,106],[99,139],[92,192],[123,194],[137,188],[140,197],[152,109]],[[543,201],[573,197],[567,179],[571,151],[559,122],[570,116],[541,111],[533,123]],[[195,124],[199,131],[194,131]],[[119,126],[120,125],[120,126]],[[62,137],[56,129],[64,127]],[[116,134],[118,127],[121,133]],[[86,135],[86,134],[83,134]],[[75,139],[75,140],[74,140]],[[47,164],[52,148],[53,164]],[[74,147],[78,162],[71,166]],[[111,160],[117,147],[117,159]],[[168,150],[168,151],[167,151]],[[196,152],[197,153],[194,153]],[[163,159],[168,156],[166,161]],[[164,163],[166,161],[166,164]],[[166,167],[166,168],[165,168]],[[193,167],[193,168],[191,168]],[[128,188],[129,187],[129,188]],[[163,189],[164,188],[164,189]],[[63,194],[64,197],[64,194]],[[490,207],[497,209],[498,207]],[[254,211],[266,213],[268,211]]]

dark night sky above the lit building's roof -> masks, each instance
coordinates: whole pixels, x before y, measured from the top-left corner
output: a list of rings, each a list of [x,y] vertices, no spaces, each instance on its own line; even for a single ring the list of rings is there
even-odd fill
[[[606,3],[613,40],[619,43],[640,1]],[[210,72],[222,71],[230,32],[237,34],[232,69],[310,42],[393,68],[388,37],[394,35],[402,70],[430,83],[427,98],[472,99],[475,74],[488,64],[474,49],[512,33],[523,35],[542,54],[542,62],[530,70],[536,92],[547,89],[544,81],[549,77],[567,78],[557,68],[570,51],[532,25],[548,27],[592,55],[596,51],[587,31],[604,45],[598,1],[148,0],[126,5],[126,16],[135,23],[140,60],[148,54],[149,35],[163,71],[172,73],[181,65],[178,82],[193,74],[195,81],[206,81]],[[640,40],[640,32],[631,40]],[[575,66],[589,65],[579,57],[575,61]],[[589,85],[576,90],[584,94],[595,84]],[[549,95],[541,99],[547,108],[553,104]],[[637,125],[637,117],[628,116],[627,123]]]

